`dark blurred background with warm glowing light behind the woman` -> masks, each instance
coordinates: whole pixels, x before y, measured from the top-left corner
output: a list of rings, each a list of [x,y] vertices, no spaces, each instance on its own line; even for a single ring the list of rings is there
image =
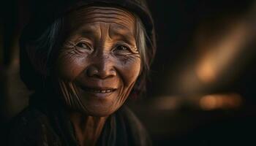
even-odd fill
[[[28,0],[1,1],[1,126],[28,104],[18,38]],[[128,104],[154,145],[256,145],[256,1],[148,0],[157,55]]]

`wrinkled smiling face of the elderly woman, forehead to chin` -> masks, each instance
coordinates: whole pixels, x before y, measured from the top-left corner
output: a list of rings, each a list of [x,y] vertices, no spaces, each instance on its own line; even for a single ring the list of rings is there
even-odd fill
[[[112,114],[140,74],[135,17],[123,9],[84,7],[69,13],[64,24],[56,58],[61,96],[73,110]]]

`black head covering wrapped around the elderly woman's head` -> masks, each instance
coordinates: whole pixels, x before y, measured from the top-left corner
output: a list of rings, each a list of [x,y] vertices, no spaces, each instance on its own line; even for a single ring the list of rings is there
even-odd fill
[[[54,20],[65,15],[67,12],[86,5],[105,4],[117,6],[133,12],[142,21],[149,37],[146,55],[148,64],[151,64],[155,53],[154,23],[145,0],[38,0],[32,2],[31,20],[23,29],[20,37],[20,77],[30,90],[42,86],[42,74],[37,72],[31,64],[31,59],[26,50],[29,42],[37,39]]]

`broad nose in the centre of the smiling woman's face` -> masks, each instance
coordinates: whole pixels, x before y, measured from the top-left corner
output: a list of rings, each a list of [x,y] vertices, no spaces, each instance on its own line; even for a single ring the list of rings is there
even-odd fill
[[[95,56],[91,60],[91,64],[86,69],[88,77],[96,77],[99,79],[106,79],[116,76],[116,69],[113,66],[109,55]]]

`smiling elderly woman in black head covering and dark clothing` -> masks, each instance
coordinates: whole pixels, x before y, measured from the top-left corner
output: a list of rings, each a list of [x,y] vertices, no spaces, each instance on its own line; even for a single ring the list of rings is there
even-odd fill
[[[124,106],[145,89],[154,27],[143,0],[43,1],[20,37],[34,91],[10,145],[150,145]]]

